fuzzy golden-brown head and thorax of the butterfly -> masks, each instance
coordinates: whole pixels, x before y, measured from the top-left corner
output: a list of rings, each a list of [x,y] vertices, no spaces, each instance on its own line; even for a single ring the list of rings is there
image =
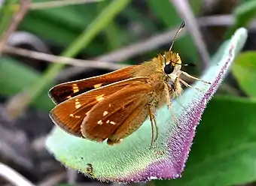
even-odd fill
[[[166,74],[164,68],[169,65],[172,73]],[[151,86],[151,94],[148,95],[148,104],[151,107],[157,109],[166,103],[166,92],[169,91],[173,95],[174,85],[178,86],[176,92],[181,92],[181,86],[178,81],[175,80],[180,75],[181,58],[178,53],[169,51],[165,52],[165,55],[158,55],[156,58],[152,58],[151,61],[144,62],[139,71],[136,72],[136,77],[148,77],[147,84]],[[167,89],[167,91],[166,91]]]

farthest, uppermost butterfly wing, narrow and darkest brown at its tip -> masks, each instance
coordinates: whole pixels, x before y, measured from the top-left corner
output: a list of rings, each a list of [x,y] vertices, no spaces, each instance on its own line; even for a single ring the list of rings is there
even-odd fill
[[[88,92],[92,89],[96,89],[102,86],[116,83],[122,80],[127,80],[133,77],[138,65],[133,65],[127,68],[104,74],[102,76],[91,77],[84,80],[77,80],[68,83],[61,83],[54,86],[49,91],[49,96],[55,104],[59,104],[76,95],[81,95],[84,92]]]

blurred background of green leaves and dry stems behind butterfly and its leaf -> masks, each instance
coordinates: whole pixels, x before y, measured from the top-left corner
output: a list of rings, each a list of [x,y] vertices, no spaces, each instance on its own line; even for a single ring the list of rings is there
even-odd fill
[[[174,50],[184,63],[196,64],[185,69],[190,74],[200,75],[209,65],[207,51],[212,56],[236,28],[249,29],[248,42],[203,115],[184,177],[146,184],[199,185],[200,181],[215,185],[218,180],[218,185],[254,185],[256,1],[190,0],[188,9],[184,6],[187,1],[181,0],[69,0],[71,5],[61,1],[56,7],[49,2],[2,1],[0,172],[5,170],[2,166],[11,166],[36,185],[99,184],[67,171],[45,150],[44,137],[53,127],[48,118],[53,107],[48,89],[154,57],[169,49],[172,32],[185,19],[187,32],[178,38]],[[57,55],[108,63],[75,60],[63,65],[53,63],[59,62]],[[0,181],[9,185],[4,179]]]

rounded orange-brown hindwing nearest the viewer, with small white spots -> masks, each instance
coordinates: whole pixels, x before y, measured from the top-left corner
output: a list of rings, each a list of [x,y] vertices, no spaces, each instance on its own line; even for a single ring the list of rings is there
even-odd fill
[[[111,138],[118,127],[121,127],[138,107],[142,105],[146,107],[148,104],[146,95],[149,92],[151,86],[143,82],[135,82],[115,92],[87,113],[81,126],[81,133],[85,138],[98,142]]]

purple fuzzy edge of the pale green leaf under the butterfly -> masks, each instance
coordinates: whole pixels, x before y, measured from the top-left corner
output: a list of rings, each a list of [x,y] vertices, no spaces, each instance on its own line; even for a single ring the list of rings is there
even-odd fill
[[[245,30],[245,28],[239,29]],[[124,175],[121,178],[105,178],[105,180],[129,183],[131,181],[139,182],[181,177],[203,111],[206,109],[206,105],[221,85],[228,68],[233,62],[233,58],[236,55],[236,46],[232,43],[232,39],[230,43],[227,60],[224,62],[218,76],[212,81],[209,89],[204,92],[203,97],[192,104],[191,107],[187,108],[188,112],[178,119],[178,127],[167,142],[168,151],[166,158],[151,163],[146,169],[142,169],[140,172]]]

